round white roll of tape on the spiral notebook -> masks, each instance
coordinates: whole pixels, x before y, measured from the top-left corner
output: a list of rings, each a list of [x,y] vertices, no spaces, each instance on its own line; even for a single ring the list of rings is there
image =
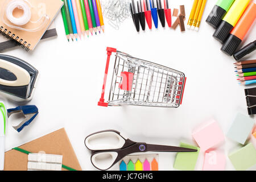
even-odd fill
[[[23,15],[20,18],[15,18],[13,15],[13,11],[18,8],[23,10]],[[24,24],[27,24],[31,19],[31,10],[30,7],[27,5],[24,1],[14,0],[11,1],[6,6],[6,17],[9,19],[9,21],[16,26],[23,26]]]

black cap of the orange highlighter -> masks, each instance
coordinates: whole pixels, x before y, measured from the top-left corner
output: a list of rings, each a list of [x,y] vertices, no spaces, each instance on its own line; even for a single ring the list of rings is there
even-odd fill
[[[233,53],[238,48],[238,46],[241,44],[241,42],[242,42],[242,40],[237,38],[237,36],[230,34],[229,38],[226,40],[226,42],[221,47],[221,51],[225,52],[229,56],[232,56]]]

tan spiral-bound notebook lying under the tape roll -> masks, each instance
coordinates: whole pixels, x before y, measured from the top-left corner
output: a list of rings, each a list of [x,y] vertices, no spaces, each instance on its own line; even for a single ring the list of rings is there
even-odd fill
[[[49,25],[52,23],[53,19],[55,19],[57,13],[60,11],[63,6],[63,1],[61,0],[27,0],[31,3],[32,6],[36,6],[42,3],[46,6],[46,14],[49,16],[49,21],[46,26],[44,26],[41,30],[36,32],[27,32],[22,30],[17,30],[15,28],[7,27],[5,23],[2,22],[0,18],[0,32],[2,35],[5,35],[7,38],[13,39],[18,42],[22,48],[28,50],[33,50],[38,44],[39,40],[42,38]],[[3,6],[5,0],[0,0],[0,7]],[[33,16],[33,15],[32,15]],[[30,28],[26,24],[23,28]]]

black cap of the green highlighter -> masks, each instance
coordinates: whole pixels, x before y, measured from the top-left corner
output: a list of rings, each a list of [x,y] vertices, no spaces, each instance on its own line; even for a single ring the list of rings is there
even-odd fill
[[[207,17],[206,22],[213,28],[217,28],[225,14],[226,10],[222,9],[220,6],[215,5]]]

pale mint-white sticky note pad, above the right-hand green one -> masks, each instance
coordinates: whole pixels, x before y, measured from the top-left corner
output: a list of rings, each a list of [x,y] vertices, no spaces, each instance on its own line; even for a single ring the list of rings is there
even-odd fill
[[[254,126],[254,119],[238,113],[232,126],[230,127],[227,137],[241,144],[245,144]]]

